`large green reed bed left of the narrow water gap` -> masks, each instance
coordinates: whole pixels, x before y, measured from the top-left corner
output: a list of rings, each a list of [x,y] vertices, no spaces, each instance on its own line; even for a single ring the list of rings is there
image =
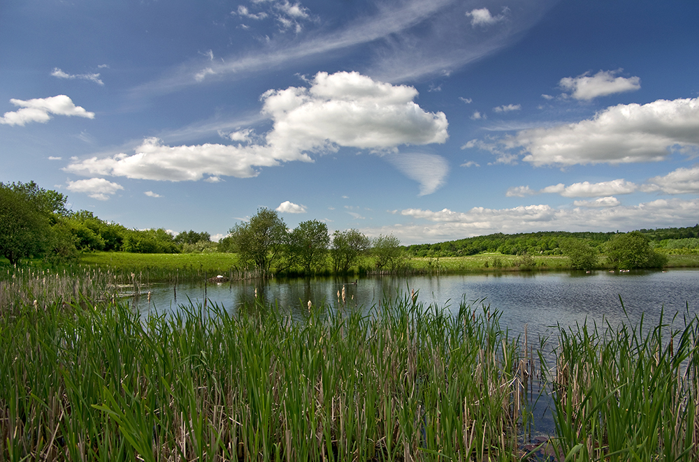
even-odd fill
[[[497,313],[383,306],[25,306],[1,318],[0,461],[519,460],[531,362]]]

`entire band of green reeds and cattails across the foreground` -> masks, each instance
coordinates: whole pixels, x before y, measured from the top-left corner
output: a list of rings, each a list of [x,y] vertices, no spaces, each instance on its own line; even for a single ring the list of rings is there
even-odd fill
[[[113,277],[44,274],[0,300],[0,461],[699,456],[689,306],[545,341],[501,328],[489,306],[451,315],[412,295],[368,314],[311,303],[301,320],[261,301],[141,317]],[[535,428],[539,402],[550,435]]]

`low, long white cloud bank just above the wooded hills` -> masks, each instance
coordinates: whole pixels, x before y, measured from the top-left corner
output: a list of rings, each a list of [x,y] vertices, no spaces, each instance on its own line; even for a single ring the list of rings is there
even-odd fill
[[[600,201],[602,202],[602,201]],[[535,204],[512,209],[474,207],[466,212],[449,209],[431,211],[405,209],[401,215],[417,223],[391,225],[393,232],[405,244],[439,242],[493,232],[518,233],[542,230],[608,231],[663,228],[696,223],[699,198],[670,199],[642,202],[633,206],[554,208]],[[430,223],[420,223],[428,221]],[[384,230],[363,230],[366,234],[386,234]]]

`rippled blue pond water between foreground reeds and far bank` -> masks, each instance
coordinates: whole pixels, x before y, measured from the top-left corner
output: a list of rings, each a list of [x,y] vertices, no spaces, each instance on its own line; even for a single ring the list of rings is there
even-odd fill
[[[266,303],[277,303],[295,318],[314,306],[338,306],[338,292],[345,288],[346,303],[367,311],[389,297],[410,297],[413,290],[424,304],[436,304],[447,311],[459,310],[461,301],[490,306],[501,313],[500,323],[513,332],[523,331],[536,338],[551,334],[552,326],[575,326],[587,322],[657,323],[661,310],[665,320],[678,311],[699,313],[699,270],[607,271],[448,274],[440,276],[373,276],[359,280],[338,278],[294,278],[270,281],[187,283],[153,285],[142,289],[131,304],[141,313],[178,311],[180,305],[218,304],[235,313],[257,292]],[[150,291],[148,301],[144,292]],[[619,301],[621,297],[621,301]],[[623,306],[622,306],[623,301]],[[341,301],[340,301],[341,303]],[[626,314],[624,313],[626,308]],[[627,319],[628,315],[628,319]]]

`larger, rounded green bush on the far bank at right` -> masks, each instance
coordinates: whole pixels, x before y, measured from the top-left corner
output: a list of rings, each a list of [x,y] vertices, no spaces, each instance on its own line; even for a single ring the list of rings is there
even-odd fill
[[[617,269],[660,268],[667,257],[656,253],[648,239],[638,231],[615,234],[605,246],[607,263]]]

